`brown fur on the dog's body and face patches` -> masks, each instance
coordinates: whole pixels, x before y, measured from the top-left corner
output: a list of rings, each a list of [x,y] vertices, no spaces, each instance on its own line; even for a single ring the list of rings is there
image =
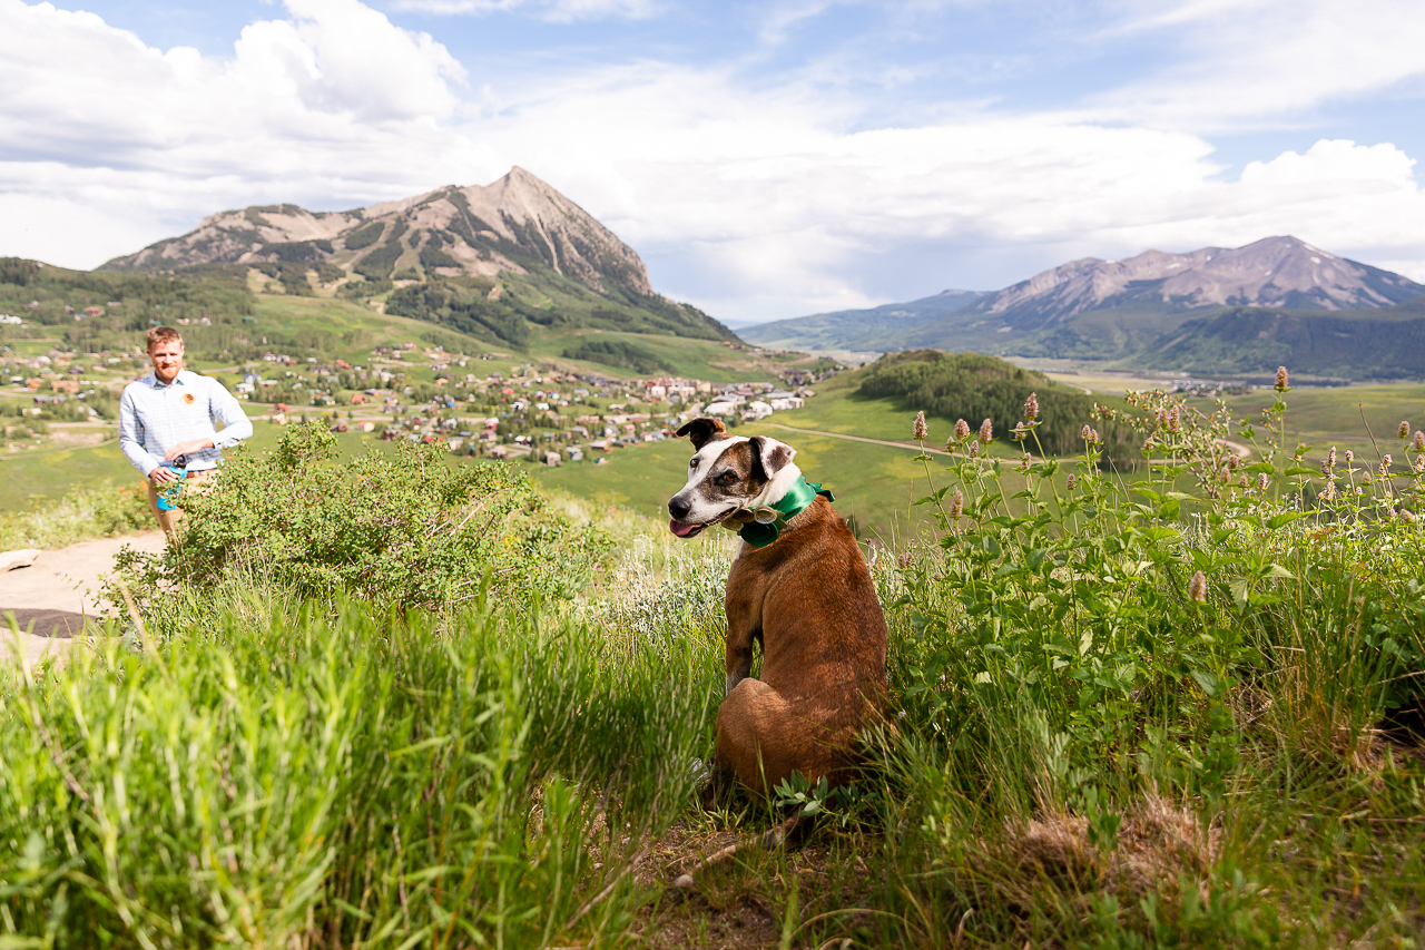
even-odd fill
[[[727,438],[720,431],[691,432],[694,445]],[[724,454],[731,471],[754,479],[750,495],[767,479],[760,451],[754,441]],[[725,608],[728,676],[751,673],[754,640],[762,672],[722,702],[715,763],[762,795],[792,772],[831,785],[852,777],[858,737],[882,712],[886,623],[861,548],[831,502],[817,498],[765,548],[744,543]]]

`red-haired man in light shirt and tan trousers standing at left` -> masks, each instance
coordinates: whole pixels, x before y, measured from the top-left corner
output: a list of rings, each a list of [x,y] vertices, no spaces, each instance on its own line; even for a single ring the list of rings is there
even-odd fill
[[[124,387],[118,401],[118,445],[148,479],[148,504],[158,526],[174,538],[181,512],[160,505],[187,469],[184,489],[198,489],[218,471],[224,448],[252,435],[252,422],[221,382],[184,369],[182,337],[172,327],[148,331],[154,371]],[[219,434],[214,422],[224,424]]]

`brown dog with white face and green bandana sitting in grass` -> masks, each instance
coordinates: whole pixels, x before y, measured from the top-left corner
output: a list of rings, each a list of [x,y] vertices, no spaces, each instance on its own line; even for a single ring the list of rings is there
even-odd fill
[[[807,486],[789,445],[728,435],[708,418],[678,435],[693,439],[694,455],[688,484],[668,502],[673,533],[760,515],[727,581],[715,763],[762,795],[792,772],[845,782],[886,688],[885,616],[856,539]],[[748,678],[752,640],[762,646],[761,679]]]

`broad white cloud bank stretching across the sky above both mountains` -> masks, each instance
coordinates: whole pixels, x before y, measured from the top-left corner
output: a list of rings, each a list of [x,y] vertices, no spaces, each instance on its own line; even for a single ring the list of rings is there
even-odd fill
[[[962,106],[888,127],[821,73],[754,87],[646,61],[476,91],[440,43],[356,0],[286,10],[219,58],[0,0],[0,254],[93,267],[221,208],[353,207],[520,164],[658,290],[728,318],[1268,234],[1425,280],[1425,197],[1391,144],[1322,140],[1224,181],[1173,121]]]

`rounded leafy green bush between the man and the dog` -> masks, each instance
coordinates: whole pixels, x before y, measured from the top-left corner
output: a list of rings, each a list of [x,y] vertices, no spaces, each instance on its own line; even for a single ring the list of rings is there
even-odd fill
[[[547,511],[513,466],[449,465],[416,444],[336,462],[335,441],[319,422],[291,427],[274,454],[235,454],[211,491],[181,495],[182,543],[121,561],[145,615],[181,613],[194,591],[235,576],[450,611],[486,585],[502,599],[567,598],[598,566],[601,533]]]

